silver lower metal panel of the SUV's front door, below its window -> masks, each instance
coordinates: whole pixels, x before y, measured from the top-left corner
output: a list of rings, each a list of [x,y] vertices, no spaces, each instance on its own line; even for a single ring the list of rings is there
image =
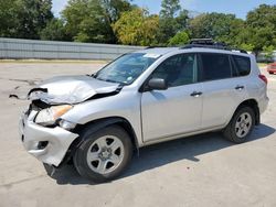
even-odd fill
[[[201,129],[202,97],[192,97],[193,91],[202,91],[202,84],[142,94],[141,120],[145,142]]]

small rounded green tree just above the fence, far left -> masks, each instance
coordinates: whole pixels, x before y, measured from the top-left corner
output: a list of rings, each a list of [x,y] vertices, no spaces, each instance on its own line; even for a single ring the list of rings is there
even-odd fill
[[[45,41],[65,41],[65,28],[62,20],[53,19],[45,29],[40,32],[41,40]]]

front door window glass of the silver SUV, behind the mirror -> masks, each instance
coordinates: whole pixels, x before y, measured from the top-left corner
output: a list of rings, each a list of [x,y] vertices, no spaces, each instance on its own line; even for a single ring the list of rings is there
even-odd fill
[[[197,55],[179,54],[162,62],[151,74],[151,78],[162,78],[169,87],[193,84],[197,81]]]

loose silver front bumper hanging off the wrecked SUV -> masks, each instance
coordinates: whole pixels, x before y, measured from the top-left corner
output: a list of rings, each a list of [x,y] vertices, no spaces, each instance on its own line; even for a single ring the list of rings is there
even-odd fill
[[[25,150],[43,163],[59,166],[78,134],[60,127],[46,128],[33,122],[36,111],[21,116],[19,131]]]

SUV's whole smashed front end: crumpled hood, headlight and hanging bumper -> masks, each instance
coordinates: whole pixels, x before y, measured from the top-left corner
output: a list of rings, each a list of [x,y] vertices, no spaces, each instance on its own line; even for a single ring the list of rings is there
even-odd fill
[[[78,134],[77,123],[62,119],[74,106],[118,94],[119,84],[91,76],[56,77],[28,94],[31,105],[20,119],[20,134],[25,150],[45,164],[57,167]]]

